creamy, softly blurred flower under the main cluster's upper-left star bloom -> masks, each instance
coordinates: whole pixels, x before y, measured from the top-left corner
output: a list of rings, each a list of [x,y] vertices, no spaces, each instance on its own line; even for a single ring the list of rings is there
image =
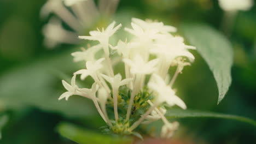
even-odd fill
[[[74,62],[79,61],[92,61],[95,62],[95,54],[101,50],[101,45],[95,45],[90,48],[88,48],[85,51],[77,51],[71,53],[71,55],[74,57]]]

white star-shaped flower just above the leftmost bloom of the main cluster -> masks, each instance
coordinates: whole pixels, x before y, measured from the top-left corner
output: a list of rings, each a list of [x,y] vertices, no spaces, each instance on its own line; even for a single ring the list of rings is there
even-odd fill
[[[96,62],[87,61],[86,69],[81,69],[75,72],[74,74],[81,74],[81,80],[84,80],[87,76],[91,76],[97,82],[97,73],[103,66],[101,62],[104,61],[104,58],[98,59]]]

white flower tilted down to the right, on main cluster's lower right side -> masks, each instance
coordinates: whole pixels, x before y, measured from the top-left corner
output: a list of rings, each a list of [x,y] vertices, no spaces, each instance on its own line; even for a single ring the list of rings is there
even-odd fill
[[[161,104],[166,102],[168,105],[178,105],[182,109],[187,109],[185,103],[175,95],[175,92],[172,90],[170,86],[167,86],[165,81],[158,75],[153,74],[154,81],[150,81],[148,83],[148,87],[157,93],[155,98],[156,104]]]

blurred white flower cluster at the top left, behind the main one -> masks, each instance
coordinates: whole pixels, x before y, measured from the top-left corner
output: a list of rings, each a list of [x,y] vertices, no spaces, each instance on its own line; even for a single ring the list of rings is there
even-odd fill
[[[94,0],[48,0],[43,5],[40,16],[46,18],[54,13],[43,28],[44,44],[49,48],[56,45],[77,44],[77,36],[91,28],[100,16],[112,15],[117,8],[118,0],[100,0],[98,7]],[[61,22],[71,28],[62,27]]]

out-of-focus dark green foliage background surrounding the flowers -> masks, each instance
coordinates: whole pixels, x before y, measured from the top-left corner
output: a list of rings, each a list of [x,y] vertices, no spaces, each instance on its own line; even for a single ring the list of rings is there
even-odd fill
[[[63,44],[49,50],[43,45],[42,27],[48,20],[40,19],[39,11],[44,3],[0,1],[0,116],[8,116],[0,140],[3,144],[74,143],[57,133],[57,124],[66,121],[94,131],[104,125],[91,101],[76,96],[57,100],[65,90],[61,79],[70,80],[69,75],[83,65],[73,63],[70,55],[78,46]],[[183,23],[202,22],[222,32],[223,15],[216,0],[120,0],[114,19],[157,19],[178,28]],[[178,76],[174,87],[189,109],[256,119],[255,6],[237,13],[228,38],[234,66],[232,85],[222,103],[217,105],[216,82],[196,51],[195,62]],[[184,143],[256,143],[255,127],[245,123],[212,118],[178,121],[181,128],[174,138]]]

